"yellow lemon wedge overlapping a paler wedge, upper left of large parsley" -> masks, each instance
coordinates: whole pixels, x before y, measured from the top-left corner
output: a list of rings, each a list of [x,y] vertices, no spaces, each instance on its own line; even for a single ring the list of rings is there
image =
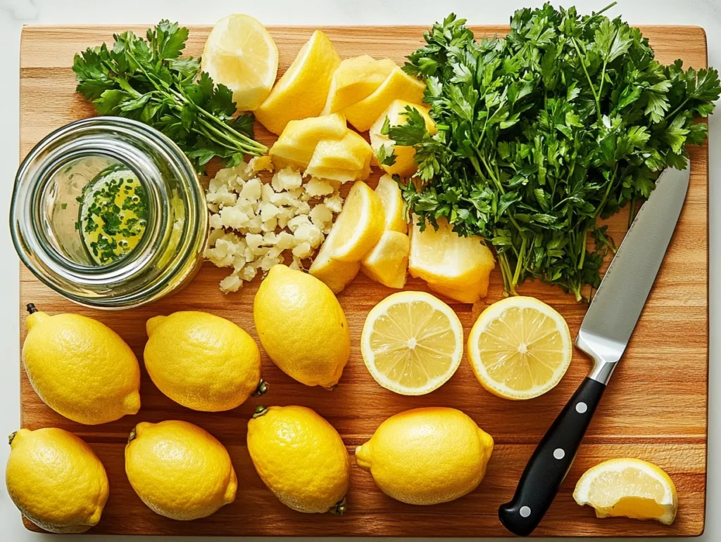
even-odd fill
[[[376,119],[394,100],[405,100],[411,104],[423,103],[425,83],[417,77],[409,76],[399,66],[393,68],[386,80],[365,99],[341,109],[351,125],[358,132],[366,132]]]

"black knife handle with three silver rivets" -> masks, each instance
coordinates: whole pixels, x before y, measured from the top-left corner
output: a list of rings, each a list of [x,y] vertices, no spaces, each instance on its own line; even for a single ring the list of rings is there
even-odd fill
[[[587,377],[536,447],[513,500],[498,509],[498,518],[511,533],[528,536],[541,523],[571,468],[605,390],[604,384]]]

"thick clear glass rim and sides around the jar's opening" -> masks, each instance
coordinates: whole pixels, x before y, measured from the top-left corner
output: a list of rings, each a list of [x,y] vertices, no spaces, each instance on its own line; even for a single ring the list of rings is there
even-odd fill
[[[159,256],[159,245],[167,243],[173,224],[169,223],[168,206],[171,197],[159,169],[140,148],[127,143],[123,138],[152,148],[159,153],[164,163],[187,186],[187,202],[193,223],[185,224],[180,243],[182,253],[173,258],[164,275],[171,276],[174,268],[193,256],[198,250],[197,243],[186,242],[195,230],[207,230],[208,209],[205,205],[203,187],[195,174],[193,165],[185,153],[161,132],[133,119],[124,117],[91,117],[71,122],[43,137],[22,161],[15,178],[10,212],[10,230],[13,243],[23,263],[45,284],[69,299],[90,306],[121,308],[137,304],[136,297],[149,296],[153,290],[162,290],[166,285],[146,285],[133,299],[112,299],[112,294],[93,294],[91,297],[68,292],[65,284],[71,283],[88,290],[114,281],[131,281],[155,265]],[[146,231],[136,248],[120,260],[106,266],[90,266],[72,261],[53,244],[48,243],[45,232],[38,227],[37,208],[43,189],[53,182],[53,174],[63,166],[88,156],[105,156],[125,164],[145,186],[149,196],[149,217]]]

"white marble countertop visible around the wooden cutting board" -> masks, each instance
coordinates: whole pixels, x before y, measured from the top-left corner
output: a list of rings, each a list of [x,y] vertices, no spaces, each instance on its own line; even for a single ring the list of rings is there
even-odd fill
[[[610,1],[610,0],[609,0]],[[554,2],[557,3],[557,2]],[[591,12],[606,0],[565,0],[579,12]],[[12,179],[18,165],[18,64],[20,29],[23,24],[152,24],[167,18],[183,24],[212,24],[233,12],[251,14],[265,24],[423,24],[430,25],[448,12],[469,19],[473,24],[504,24],[522,6],[539,6],[539,0],[515,2],[488,0],[0,0],[0,50],[3,55],[4,84],[0,84],[0,213],[7,216]],[[706,29],[709,65],[721,68],[721,0],[621,0],[612,14],[623,14],[632,24],[695,24]],[[715,279],[721,263],[721,191],[715,186],[721,176],[721,113],[710,122],[710,285],[711,354],[709,402],[709,470],[706,533],[698,540],[721,540],[721,368],[716,362],[721,335],[717,335],[717,312],[721,307],[721,283]],[[3,219],[2,222],[5,222]],[[0,435],[8,435],[19,425],[19,322],[18,268],[9,231],[0,228],[0,344],[5,352],[0,363]],[[682,361],[682,360],[680,360]],[[717,395],[718,394],[718,395]],[[4,479],[9,447],[0,442],[0,473]],[[683,513],[683,502],[681,512]],[[132,521],[132,518],[128,518]],[[160,541],[160,537],[64,536],[30,533],[20,521],[19,512],[0,483],[0,541]],[[165,538],[167,540],[167,538]],[[185,538],[187,542],[211,538]],[[260,539],[259,539],[260,540]],[[267,538],[265,539],[267,540]],[[665,539],[671,540],[671,538]],[[674,538],[673,540],[676,540]]]

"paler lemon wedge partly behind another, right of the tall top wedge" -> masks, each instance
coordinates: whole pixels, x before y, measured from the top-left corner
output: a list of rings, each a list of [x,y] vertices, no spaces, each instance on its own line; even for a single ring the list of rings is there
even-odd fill
[[[346,58],[333,72],[323,114],[334,113],[373,94],[396,63],[389,58],[376,60],[369,55]]]

